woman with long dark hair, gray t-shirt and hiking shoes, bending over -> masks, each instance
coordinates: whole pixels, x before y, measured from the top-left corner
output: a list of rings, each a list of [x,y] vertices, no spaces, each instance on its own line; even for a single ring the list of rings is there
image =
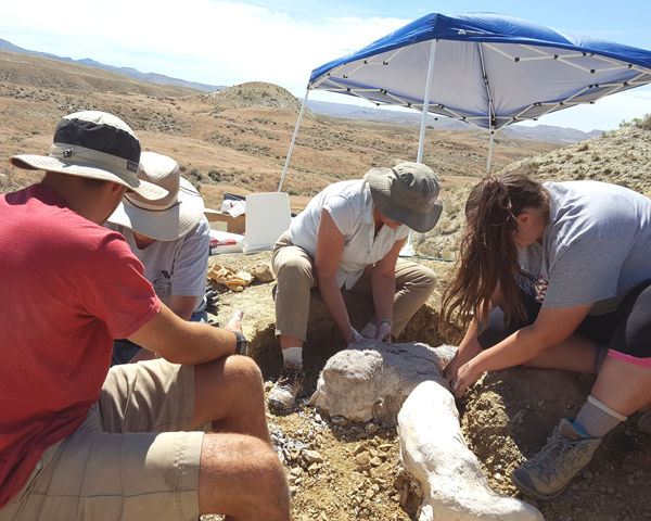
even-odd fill
[[[651,402],[651,200],[604,182],[509,174],[476,185],[465,217],[443,298],[443,319],[468,327],[445,369],[455,393],[520,364],[597,374],[576,418],[563,418],[511,475],[548,499]],[[650,423],[647,414],[639,424],[651,432]]]

